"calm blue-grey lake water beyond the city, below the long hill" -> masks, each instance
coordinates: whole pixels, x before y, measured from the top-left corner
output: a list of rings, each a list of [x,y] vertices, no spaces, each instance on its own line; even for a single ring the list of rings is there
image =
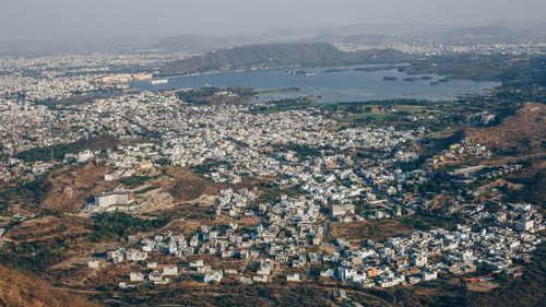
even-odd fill
[[[168,83],[152,85],[150,81],[132,82],[129,85],[139,91],[175,90],[185,87],[201,87],[206,84],[227,86],[250,86],[258,91],[286,87],[305,87],[298,92],[277,92],[262,94],[257,102],[297,97],[321,96],[324,103],[356,102],[391,98],[415,98],[429,101],[450,101],[458,95],[483,93],[486,88],[498,85],[495,82],[474,82],[458,80],[431,85],[430,82],[443,79],[435,74],[426,74],[431,80],[403,81],[404,78],[420,78],[424,74],[408,75],[396,69],[375,72],[354,71],[355,68],[371,66],[346,67],[301,67],[292,70],[313,72],[313,75],[294,75],[286,69],[260,70],[246,72],[223,72],[215,74],[191,75],[169,79]],[[348,69],[342,72],[323,73],[330,69]],[[399,80],[385,81],[383,76],[395,76]]]

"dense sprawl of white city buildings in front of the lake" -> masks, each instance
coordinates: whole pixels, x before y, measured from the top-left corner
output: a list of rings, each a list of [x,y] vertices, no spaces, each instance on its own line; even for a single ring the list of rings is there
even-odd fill
[[[90,256],[87,264],[96,270],[136,263],[119,278],[119,287],[171,284],[185,275],[203,283],[339,281],[390,287],[456,276],[478,265],[517,276],[521,274],[518,263],[529,261],[541,243],[545,224],[536,204],[505,203],[498,197],[468,201],[494,192],[495,187],[466,190],[442,204],[446,214],[465,221],[449,229],[434,227],[384,239],[336,236],[334,228],[434,210],[437,194],[415,187],[432,180],[442,164],[466,157],[487,160],[489,149],[463,139],[427,158],[420,168],[404,170],[400,165],[419,158],[418,144],[429,132],[426,127],[337,129],[335,116],[327,117],[316,107],[258,113],[257,107],[272,105],[195,105],[178,98],[176,91],[136,92],[127,83],[150,81],[152,72],[110,73],[114,64],[149,67],[166,60],[94,55],[0,61],[4,72],[0,74],[0,144],[8,156],[0,160],[1,180],[33,180],[63,166],[93,163],[111,167],[104,176],[106,182],[138,177],[161,180],[168,177],[164,167],[183,167],[226,185],[219,193],[197,200],[209,205],[211,219],[201,221],[191,234],[135,235],[111,248],[106,259]],[[93,99],[48,105],[48,101],[82,94]],[[215,95],[237,93],[226,90]],[[124,143],[47,161],[25,161],[20,155],[104,135]],[[361,158],[361,151],[373,154]],[[453,185],[467,187],[521,167],[459,165],[443,175]],[[268,178],[265,187],[278,197],[266,199],[257,186],[236,188],[249,178]],[[124,211],[138,215],[177,206],[168,190],[150,186],[120,184],[90,194],[87,204],[73,214]],[[320,272],[312,273],[311,268]]]

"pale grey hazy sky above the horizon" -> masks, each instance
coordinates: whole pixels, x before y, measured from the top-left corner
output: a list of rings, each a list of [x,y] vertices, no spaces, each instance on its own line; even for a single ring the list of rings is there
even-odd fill
[[[545,0],[0,0],[0,39],[542,21]]]

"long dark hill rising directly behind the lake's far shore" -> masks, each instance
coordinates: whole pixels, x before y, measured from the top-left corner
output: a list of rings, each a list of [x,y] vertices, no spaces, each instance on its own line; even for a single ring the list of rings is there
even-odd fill
[[[325,43],[259,44],[222,49],[167,63],[162,72],[198,73],[218,70],[261,69],[286,66],[337,66],[400,62],[410,56],[396,50],[344,52]]]

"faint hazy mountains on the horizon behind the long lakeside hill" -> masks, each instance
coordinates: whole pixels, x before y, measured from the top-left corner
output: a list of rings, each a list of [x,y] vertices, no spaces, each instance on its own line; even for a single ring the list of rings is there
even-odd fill
[[[275,43],[330,43],[384,45],[387,43],[410,43],[424,38],[441,44],[495,44],[546,42],[546,23],[501,22],[485,26],[447,26],[415,23],[359,24],[318,29],[281,28],[242,33],[227,36],[179,35],[167,37],[150,46],[152,49],[173,51],[206,52],[211,50],[253,44]],[[529,26],[532,29],[527,29]]]

